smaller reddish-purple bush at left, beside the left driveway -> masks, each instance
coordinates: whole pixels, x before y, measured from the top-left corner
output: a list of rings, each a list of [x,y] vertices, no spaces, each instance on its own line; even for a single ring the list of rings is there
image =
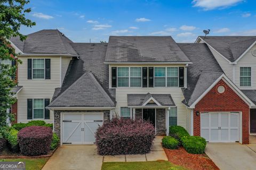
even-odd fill
[[[29,126],[18,133],[21,154],[27,156],[45,155],[50,151],[52,129],[45,126]]]

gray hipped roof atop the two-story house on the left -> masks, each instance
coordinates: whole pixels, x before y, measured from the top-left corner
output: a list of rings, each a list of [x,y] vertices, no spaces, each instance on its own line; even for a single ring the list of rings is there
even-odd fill
[[[12,37],[10,41],[25,54],[70,54],[78,55],[73,43],[59,30],[41,30],[27,35],[25,41]]]

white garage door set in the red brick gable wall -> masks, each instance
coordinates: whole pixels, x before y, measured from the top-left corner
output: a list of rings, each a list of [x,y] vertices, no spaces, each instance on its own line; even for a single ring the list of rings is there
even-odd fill
[[[209,142],[239,141],[239,113],[201,113],[201,136]]]

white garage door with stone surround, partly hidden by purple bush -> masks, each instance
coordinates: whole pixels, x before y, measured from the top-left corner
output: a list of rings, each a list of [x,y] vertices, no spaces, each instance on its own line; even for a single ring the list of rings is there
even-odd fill
[[[62,143],[92,144],[103,113],[62,113]]]

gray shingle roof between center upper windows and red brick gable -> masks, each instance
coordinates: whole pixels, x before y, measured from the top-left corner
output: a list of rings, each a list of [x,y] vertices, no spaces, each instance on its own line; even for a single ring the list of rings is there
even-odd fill
[[[223,71],[205,43],[178,43],[193,64],[187,69],[187,89],[183,88],[186,105],[190,106],[217,80]]]

